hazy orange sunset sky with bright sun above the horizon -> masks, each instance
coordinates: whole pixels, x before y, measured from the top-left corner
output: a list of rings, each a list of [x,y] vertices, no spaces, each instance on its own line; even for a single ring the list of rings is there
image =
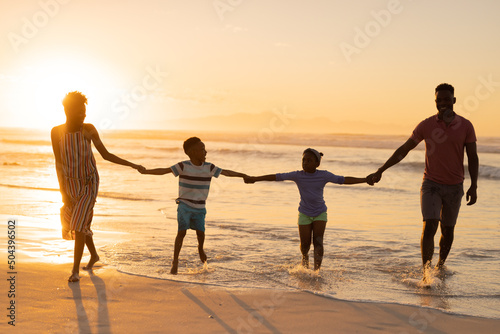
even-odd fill
[[[1,126],[63,123],[61,100],[78,90],[98,129],[171,129],[180,118],[287,110],[298,120],[326,117],[347,133],[409,134],[436,112],[434,88],[448,82],[455,111],[477,135],[499,135],[498,1],[0,6]]]

